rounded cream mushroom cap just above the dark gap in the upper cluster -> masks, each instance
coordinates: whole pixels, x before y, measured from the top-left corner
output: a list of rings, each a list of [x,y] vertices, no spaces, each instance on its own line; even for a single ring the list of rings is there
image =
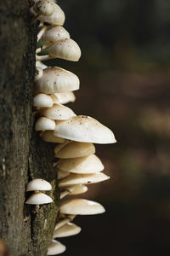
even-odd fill
[[[79,61],[81,49],[78,44],[71,38],[65,38],[57,41],[49,47],[49,55],[55,58],[67,61]]]

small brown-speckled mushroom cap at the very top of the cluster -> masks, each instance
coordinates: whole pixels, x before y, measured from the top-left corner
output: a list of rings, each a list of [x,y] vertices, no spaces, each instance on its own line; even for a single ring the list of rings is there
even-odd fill
[[[34,11],[37,15],[49,16],[54,13],[54,6],[48,0],[37,1],[33,6]]]

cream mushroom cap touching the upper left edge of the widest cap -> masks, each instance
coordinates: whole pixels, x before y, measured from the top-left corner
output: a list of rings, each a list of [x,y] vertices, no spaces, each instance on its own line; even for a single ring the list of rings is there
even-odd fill
[[[54,120],[65,120],[70,119],[71,116],[76,114],[71,110],[71,108],[65,107],[61,104],[54,104],[52,108],[43,108],[41,111],[42,115],[48,119]]]

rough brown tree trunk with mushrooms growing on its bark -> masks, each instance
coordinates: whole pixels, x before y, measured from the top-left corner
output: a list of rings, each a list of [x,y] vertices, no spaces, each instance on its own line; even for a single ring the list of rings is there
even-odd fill
[[[14,256],[47,255],[57,218],[54,148],[33,131],[31,108],[37,26],[29,3],[1,1],[0,15],[0,238]],[[53,185],[53,204],[26,206],[26,183],[42,177]]]

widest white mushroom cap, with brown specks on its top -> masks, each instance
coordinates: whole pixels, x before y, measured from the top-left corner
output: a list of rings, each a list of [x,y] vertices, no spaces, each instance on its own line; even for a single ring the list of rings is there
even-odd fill
[[[57,122],[54,135],[82,143],[116,143],[113,132],[96,119],[78,115]]]

